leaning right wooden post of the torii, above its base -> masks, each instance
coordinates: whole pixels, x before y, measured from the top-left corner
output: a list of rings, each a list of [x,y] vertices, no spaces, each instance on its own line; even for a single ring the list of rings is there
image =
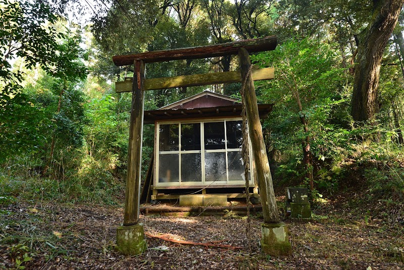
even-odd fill
[[[241,68],[241,75],[245,81],[244,95],[241,95],[245,104],[245,112],[248,122],[248,133],[251,142],[252,155],[254,155],[257,169],[258,187],[263,205],[264,222],[279,222],[279,213],[276,206],[276,198],[272,185],[272,176],[269,169],[267,151],[262,133],[262,125],[258,113],[257,96],[254,87],[254,81],[248,76],[251,61],[249,54],[245,49],[238,52],[238,60]]]

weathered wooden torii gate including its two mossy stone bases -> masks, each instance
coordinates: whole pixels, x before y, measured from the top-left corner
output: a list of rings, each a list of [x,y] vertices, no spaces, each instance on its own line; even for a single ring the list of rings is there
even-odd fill
[[[113,61],[117,66],[127,66],[133,63],[135,67],[133,80],[125,80],[116,83],[116,92],[132,92],[125,213],[123,226],[117,229],[117,246],[121,253],[135,255],[143,253],[146,249],[143,225],[139,223],[140,166],[144,111],[143,92],[151,89],[230,82],[243,82],[244,85],[245,98],[243,103],[245,104],[248,131],[257,168],[258,186],[264,215],[264,223],[262,224],[262,249],[265,253],[272,256],[289,255],[291,253],[291,246],[287,238],[287,228],[283,222],[279,222],[254,87],[254,80],[273,79],[274,68],[254,70],[254,72],[251,72],[252,74],[249,74],[251,71],[251,61],[248,53],[272,51],[275,50],[276,45],[277,37],[269,36],[209,46],[113,57]],[[210,58],[235,54],[238,55],[240,71],[154,79],[145,78],[146,63]],[[132,81],[134,83],[132,83]]]

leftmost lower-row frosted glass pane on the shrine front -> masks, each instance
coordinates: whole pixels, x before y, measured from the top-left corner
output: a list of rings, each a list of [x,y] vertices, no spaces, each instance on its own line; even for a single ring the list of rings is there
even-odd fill
[[[178,154],[159,155],[159,183],[179,182]]]

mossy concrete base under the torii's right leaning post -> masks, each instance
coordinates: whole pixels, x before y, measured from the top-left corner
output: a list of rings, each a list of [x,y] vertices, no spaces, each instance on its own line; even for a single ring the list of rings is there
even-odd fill
[[[280,257],[290,256],[292,246],[289,242],[289,231],[284,222],[261,224],[261,248],[265,254]]]

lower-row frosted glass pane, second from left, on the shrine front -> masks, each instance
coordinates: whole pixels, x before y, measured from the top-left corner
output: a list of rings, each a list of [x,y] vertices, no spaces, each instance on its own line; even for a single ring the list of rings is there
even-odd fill
[[[181,182],[201,182],[202,169],[200,153],[181,154]]]

